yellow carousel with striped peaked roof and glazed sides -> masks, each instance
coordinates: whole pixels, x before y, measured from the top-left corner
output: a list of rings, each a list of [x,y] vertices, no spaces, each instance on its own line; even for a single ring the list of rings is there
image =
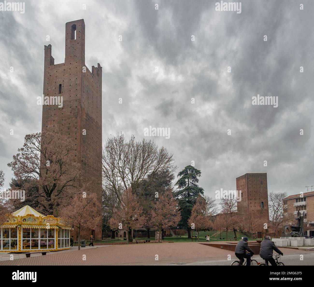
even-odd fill
[[[44,216],[26,205],[0,225],[0,252],[70,249],[70,230],[61,218]]]

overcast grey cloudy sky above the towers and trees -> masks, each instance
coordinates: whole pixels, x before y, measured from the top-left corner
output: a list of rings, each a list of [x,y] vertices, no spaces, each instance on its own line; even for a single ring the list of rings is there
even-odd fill
[[[174,154],[178,171],[195,161],[210,196],[251,172],[267,172],[268,191],[306,191],[314,185],[314,2],[301,2],[304,10],[294,0],[242,0],[236,13],[209,0],[27,1],[24,14],[1,11],[4,187],[25,134],[41,131],[44,45],[64,62],[65,23],[84,18],[86,65],[103,67],[103,142],[170,128],[169,139],[151,139]],[[278,107],[252,105],[257,94],[278,97]]]

